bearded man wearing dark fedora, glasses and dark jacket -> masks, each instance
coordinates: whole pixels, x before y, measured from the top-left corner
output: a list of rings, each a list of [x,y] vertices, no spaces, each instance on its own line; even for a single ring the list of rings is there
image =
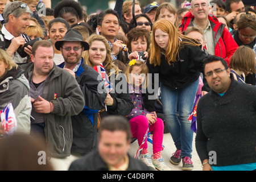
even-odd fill
[[[98,92],[98,85],[103,80],[101,77],[98,78],[98,72],[86,65],[81,57],[82,51],[89,49],[89,44],[82,40],[79,31],[70,28],[63,40],[55,43],[55,47],[64,57],[64,62],[59,67],[75,76],[84,96],[84,109],[78,115],[71,117],[73,128],[71,153],[84,155],[96,150],[98,110],[102,109],[102,103],[106,98],[106,92]]]

